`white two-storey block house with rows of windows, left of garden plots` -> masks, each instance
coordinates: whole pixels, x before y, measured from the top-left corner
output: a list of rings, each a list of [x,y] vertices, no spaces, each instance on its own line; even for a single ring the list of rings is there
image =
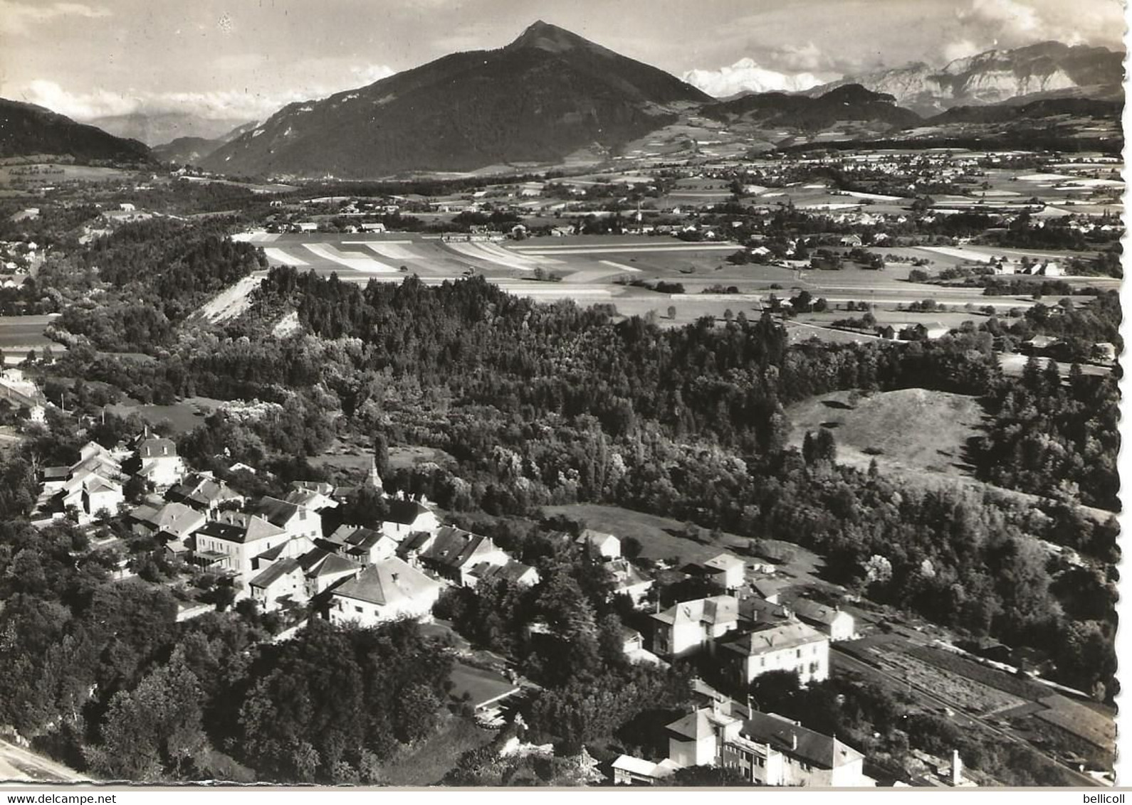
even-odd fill
[[[797,621],[756,625],[724,641],[719,655],[731,678],[744,686],[771,670],[792,672],[803,685],[830,675],[829,637]]]

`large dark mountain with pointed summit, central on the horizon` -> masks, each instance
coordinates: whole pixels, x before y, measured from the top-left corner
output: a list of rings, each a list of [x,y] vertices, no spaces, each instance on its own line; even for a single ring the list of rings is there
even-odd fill
[[[283,107],[201,166],[371,178],[556,162],[609,149],[712,98],[678,78],[538,21],[509,45],[454,53],[368,87]]]

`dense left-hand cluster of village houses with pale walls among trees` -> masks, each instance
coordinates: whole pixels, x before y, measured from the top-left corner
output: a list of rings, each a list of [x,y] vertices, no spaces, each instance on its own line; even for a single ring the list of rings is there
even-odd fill
[[[131,477],[149,490],[127,512],[135,534],[231,579],[238,598],[267,612],[317,598],[331,621],[374,625],[428,618],[446,585],[539,581],[490,537],[443,526],[422,501],[388,499],[375,528],[341,523],[326,516],[341,504],[329,484],[297,481],[283,499],[248,500],[209,473],[189,471],[172,441],[148,433],[115,449],[88,442],[74,465],[45,468],[37,521],[70,516],[86,525],[118,513]]]

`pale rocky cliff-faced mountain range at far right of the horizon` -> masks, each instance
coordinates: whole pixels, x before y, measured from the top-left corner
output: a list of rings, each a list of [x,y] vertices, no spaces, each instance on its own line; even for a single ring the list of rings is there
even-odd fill
[[[859,84],[892,95],[898,105],[921,116],[931,116],[952,106],[1001,103],[1018,96],[1122,98],[1123,80],[1123,53],[1107,47],[1041,42],[1015,50],[986,51],[942,68],[914,63],[848,76],[807,89],[805,95],[820,97],[831,89]]]

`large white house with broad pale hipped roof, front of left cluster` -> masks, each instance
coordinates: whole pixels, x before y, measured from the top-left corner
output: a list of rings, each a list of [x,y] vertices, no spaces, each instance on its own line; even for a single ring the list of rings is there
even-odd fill
[[[331,594],[331,623],[374,626],[400,617],[431,620],[441,585],[400,559],[362,570]]]

